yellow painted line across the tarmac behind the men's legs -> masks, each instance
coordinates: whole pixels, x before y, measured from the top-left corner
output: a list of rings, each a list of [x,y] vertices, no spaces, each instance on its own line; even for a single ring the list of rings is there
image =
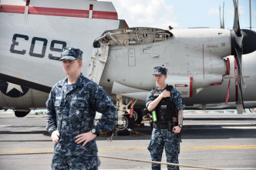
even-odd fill
[[[182,146],[180,149],[256,149],[256,145]],[[98,148],[99,151],[147,150],[147,147]],[[1,149],[0,153],[52,152],[53,148]]]

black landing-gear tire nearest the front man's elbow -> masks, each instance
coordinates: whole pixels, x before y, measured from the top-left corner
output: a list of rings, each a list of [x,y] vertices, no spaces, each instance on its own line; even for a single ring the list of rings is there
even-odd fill
[[[130,135],[130,131],[128,129],[133,130],[135,126],[135,120],[134,118],[130,118],[130,115],[123,115],[123,121],[125,121],[125,124],[119,127],[117,135]]]

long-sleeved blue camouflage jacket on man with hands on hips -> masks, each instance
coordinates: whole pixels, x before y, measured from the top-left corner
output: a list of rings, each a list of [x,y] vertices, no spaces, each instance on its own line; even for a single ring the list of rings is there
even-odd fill
[[[94,156],[98,152],[96,141],[76,144],[76,135],[89,132],[95,125],[96,112],[102,113],[102,118],[95,126],[96,132],[111,131],[116,123],[117,111],[109,95],[102,87],[84,77],[83,74],[70,92],[64,92],[67,78],[53,86],[49,94],[47,106],[46,129],[52,134],[59,130],[59,142],[54,147],[54,155]]]

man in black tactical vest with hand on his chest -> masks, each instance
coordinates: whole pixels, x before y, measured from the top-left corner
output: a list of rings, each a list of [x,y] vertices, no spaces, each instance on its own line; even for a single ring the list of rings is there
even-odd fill
[[[157,112],[157,120],[153,122],[153,131],[148,145],[151,160],[161,162],[163,148],[165,148],[167,162],[179,163],[180,133],[183,122],[182,98],[173,86],[167,85],[167,68],[157,66],[153,73],[157,87],[147,95],[146,107]],[[165,103],[165,104],[164,104]],[[176,117],[173,116],[176,112]],[[175,119],[176,118],[176,119]],[[152,169],[160,169],[160,164],[152,164]],[[167,165],[167,169],[179,169],[179,166]]]

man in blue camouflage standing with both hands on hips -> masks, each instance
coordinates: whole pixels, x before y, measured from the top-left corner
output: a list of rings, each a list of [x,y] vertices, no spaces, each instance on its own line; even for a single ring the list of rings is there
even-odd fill
[[[98,169],[96,136],[111,131],[117,111],[102,87],[81,73],[83,52],[63,48],[63,70],[67,75],[53,86],[47,106],[46,129],[54,142],[52,169]],[[96,112],[102,118],[94,125]]]

